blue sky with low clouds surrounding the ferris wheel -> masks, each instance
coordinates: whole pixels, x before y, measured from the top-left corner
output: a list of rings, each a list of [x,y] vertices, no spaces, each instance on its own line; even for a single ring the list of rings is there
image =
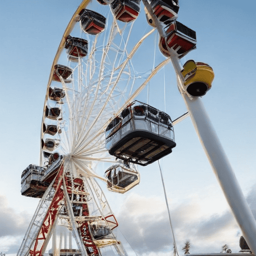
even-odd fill
[[[20,194],[20,175],[39,163],[40,126],[51,63],[79,0],[0,0],[0,252],[14,255],[38,199]],[[215,78],[202,101],[256,217],[256,12],[253,0],[180,0],[178,21],[196,31],[196,49],[182,58],[210,64]],[[148,49],[146,49],[148,50]],[[146,50],[142,50],[141,54]],[[145,59],[142,56],[142,61]],[[165,100],[150,82],[150,104],[172,119],[186,111],[171,65]],[[146,92],[143,92],[146,93]],[[174,126],[177,146],[160,160],[178,253],[239,250],[241,231],[211,170],[190,118]],[[105,189],[119,228],[137,255],[172,253],[172,235],[157,163],[138,167],[141,181],[125,194]],[[103,173],[103,171],[102,171]]]

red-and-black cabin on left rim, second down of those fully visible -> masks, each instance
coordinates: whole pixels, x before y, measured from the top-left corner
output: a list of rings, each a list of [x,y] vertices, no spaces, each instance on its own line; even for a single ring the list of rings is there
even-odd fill
[[[65,48],[68,59],[70,61],[77,62],[78,58],[82,58],[87,55],[88,42],[85,39],[68,35],[66,38]]]

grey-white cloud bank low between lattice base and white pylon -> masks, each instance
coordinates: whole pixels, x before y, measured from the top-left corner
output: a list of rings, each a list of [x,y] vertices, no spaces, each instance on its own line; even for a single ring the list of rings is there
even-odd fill
[[[255,190],[253,188],[248,194],[248,203],[256,213]],[[179,205],[169,202],[179,254],[183,254],[181,247],[186,240],[190,240],[191,253],[220,252],[224,244],[228,244],[233,252],[240,250],[241,232],[226,202],[220,202],[214,208],[210,205],[212,198],[215,200],[216,196],[209,188],[202,196],[193,194]],[[163,198],[132,193],[120,207],[122,210],[117,214],[119,228],[137,254],[160,256],[172,253],[173,239]]]

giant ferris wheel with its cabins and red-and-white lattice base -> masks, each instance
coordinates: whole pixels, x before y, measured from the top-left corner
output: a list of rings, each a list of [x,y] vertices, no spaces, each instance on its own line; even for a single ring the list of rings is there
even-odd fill
[[[137,100],[170,61],[217,168],[211,151],[219,144],[212,145],[212,139],[207,144],[203,137],[203,129],[207,137],[215,135],[198,98],[210,89],[214,73],[204,62],[180,66],[179,59],[195,48],[196,35],[176,20],[178,10],[178,0],[83,0],[75,11],[47,84],[40,164],[30,164],[21,176],[21,193],[41,199],[18,256],[127,255],[96,179],[124,193],[139,183],[136,165],[150,164],[175,147],[173,124],[188,113],[172,122],[165,111]],[[146,26],[140,34],[142,18]],[[142,64],[140,47],[150,52]],[[104,176],[95,171],[100,162],[109,163]]]

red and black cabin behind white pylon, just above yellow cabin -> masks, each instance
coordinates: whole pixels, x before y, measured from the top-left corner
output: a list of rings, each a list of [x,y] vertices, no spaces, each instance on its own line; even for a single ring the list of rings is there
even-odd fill
[[[182,58],[190,50],[195,48],[195,31],[178,21],[172,22],[166,30],[166,37],[160,37],[159,48],[163,55],[169,57],[169,48],[174,50],[179,58]]]

